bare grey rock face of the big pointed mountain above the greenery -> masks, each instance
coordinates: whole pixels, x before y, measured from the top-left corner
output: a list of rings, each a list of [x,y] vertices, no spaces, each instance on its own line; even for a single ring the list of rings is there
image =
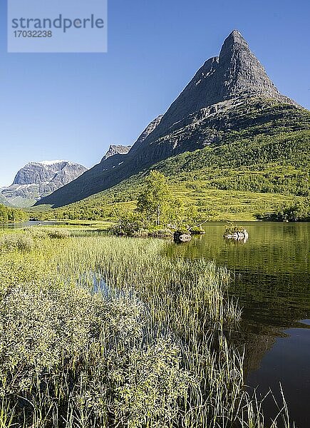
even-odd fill
[[[272,121],[289,124],[289,116],[298,111],[301,108],[279,93],[247,41],[234,30],[219,56],[205,62],[165,115],[150,123],[120,162],[105,168],[95,165],[40,203],[56,207],[76,202],[165,158],[219,144],[227,131],[251,128],[253,135],[255,127],[258,133],[266,124],[270,132]]]

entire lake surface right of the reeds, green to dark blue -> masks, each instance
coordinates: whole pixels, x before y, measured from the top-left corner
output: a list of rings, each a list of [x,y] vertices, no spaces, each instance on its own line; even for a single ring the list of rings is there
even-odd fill
[[[242,223],[247,243],[225,240],[224,223],[173,245],[172,256],[206,258],[234,272],[232,295],[243,307],[247,384],[261,394],[283,388],[292,419],[310,427],[310,223]],[[267,416],[277,414],[266,399]]]

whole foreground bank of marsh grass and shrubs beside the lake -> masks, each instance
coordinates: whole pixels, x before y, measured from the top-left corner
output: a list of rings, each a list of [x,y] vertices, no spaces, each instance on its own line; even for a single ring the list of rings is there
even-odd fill
[[[226,269],[162,240],[62,238],[0,259],[1,427],[264,426]]]

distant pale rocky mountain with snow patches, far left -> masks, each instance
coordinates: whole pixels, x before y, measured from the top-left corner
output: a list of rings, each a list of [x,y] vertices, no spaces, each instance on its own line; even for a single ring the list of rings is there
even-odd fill
[[[87,168],[68,161],[43,161],[27,163],[1,195],[13,205],[27,206],[83,174]]]

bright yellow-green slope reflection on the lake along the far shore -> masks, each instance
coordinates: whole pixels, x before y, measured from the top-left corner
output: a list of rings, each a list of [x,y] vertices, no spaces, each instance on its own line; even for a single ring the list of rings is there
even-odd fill
[[[234,245],[224,240],[225,225],[205,226],[206,234],[194,237],[172,254],[186,258],[214,258],[219,265],[229,268],[259,269],[264,272],[296,271],[310,275],[309,223],[252,223],[246,226],[249,240],[246,245]]]

